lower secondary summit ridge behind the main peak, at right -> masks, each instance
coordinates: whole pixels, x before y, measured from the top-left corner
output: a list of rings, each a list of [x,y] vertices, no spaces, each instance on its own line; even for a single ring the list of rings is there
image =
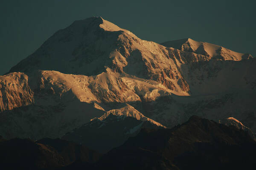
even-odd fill
[[[208,42],[198,42],[191,38],[182,40],[167,41],[161,43],[166,47],[177,48],[181,51],[194,52],[196,54],[202,54],[205,56],[221,59],[221,60],[234,60],[240,61],[242,59],[253,58],[250,54],[242,54],[235,51],[231,51],[227,48],[219,45],[210,44]]]

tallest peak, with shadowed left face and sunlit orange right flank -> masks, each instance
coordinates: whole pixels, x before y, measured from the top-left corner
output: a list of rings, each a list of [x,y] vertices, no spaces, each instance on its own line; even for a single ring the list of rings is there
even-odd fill
[[[57,31],[9,73],[54,70],[92,76],[111,68],[113,72],[156,80],[187,94],[187,84],[170,57],[175,56],[162,45],[141,40],[102,17],[91,17]]]

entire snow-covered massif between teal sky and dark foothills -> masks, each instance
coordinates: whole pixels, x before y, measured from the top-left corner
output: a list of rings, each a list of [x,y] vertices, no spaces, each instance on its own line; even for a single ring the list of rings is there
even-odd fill
[[[236,117],[256,132],[255,66],[218,45],[160,45],[102,17],[75,21],[0,76],[0,135],[56,138],[109,115],[165,127]]]

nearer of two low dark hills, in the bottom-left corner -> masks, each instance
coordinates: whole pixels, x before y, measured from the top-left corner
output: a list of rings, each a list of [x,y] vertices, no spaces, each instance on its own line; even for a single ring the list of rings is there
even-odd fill
[[[54,148],[17,138],[0,142],[0,162],[3,170],[53,169],[65,165],[63,157]]]

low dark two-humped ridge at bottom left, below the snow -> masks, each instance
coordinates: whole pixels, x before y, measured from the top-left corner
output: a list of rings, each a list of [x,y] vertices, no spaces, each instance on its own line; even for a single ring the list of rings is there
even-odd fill
[[[61,139],[11,139],[0,142],[0,163],[5,170],[57,169],[73,162],[92,164],[101,154],[87,149],[83,145]]]

